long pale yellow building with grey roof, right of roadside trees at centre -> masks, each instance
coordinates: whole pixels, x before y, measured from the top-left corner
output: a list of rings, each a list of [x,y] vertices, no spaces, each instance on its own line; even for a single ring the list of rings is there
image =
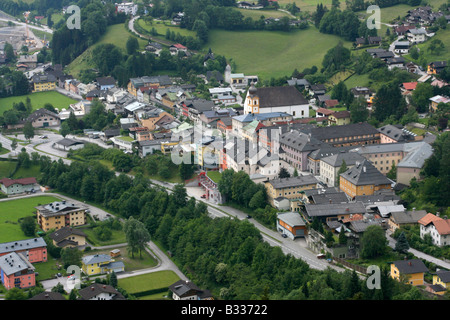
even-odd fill
[[[302,198],[303,191],[316,189],[319,181],[313,175],[279,178],[265,183],[267,196],[273,206],[273,200],[285,197],[289,200]]]

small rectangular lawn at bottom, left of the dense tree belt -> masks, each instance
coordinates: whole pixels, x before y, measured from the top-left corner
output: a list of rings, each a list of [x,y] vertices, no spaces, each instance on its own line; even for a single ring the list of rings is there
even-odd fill
[[[118,285],[128,293],[135,294],[148,290],[168,288],[178,280],[180,278],[175,272],[167,270],[119,279]]]

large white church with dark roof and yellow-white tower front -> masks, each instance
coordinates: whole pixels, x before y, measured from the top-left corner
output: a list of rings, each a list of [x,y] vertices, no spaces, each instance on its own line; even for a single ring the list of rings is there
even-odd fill
[[[244,114],[284,112],[294,118],[309,117],[309,102],[292,86],[256,88],[252,83],[244,102]]]

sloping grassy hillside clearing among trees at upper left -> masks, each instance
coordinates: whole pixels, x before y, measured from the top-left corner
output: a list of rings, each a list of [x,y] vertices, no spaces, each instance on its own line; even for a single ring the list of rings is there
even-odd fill
[[[94,64],[91,60],[92,50],[100,45],[105,43],[111,43],[116,45],[117,47],[126,50],[126,43],[128,37],[134,37],[128,30],[125,28],[125,24],[115,24],[108,27],[106,33],[100,38],[100,40],[86,49],[81,55],[79,55],[74,61],[72,61],[67,67],[66,72],[73,75],[75,78],[79,76],[81,70],[94,68]],[[136,37],[137,38],[137,37]],[[144,50],[147,45],[147,40],[143,40],[137,38],[139,42],[139,49]]]

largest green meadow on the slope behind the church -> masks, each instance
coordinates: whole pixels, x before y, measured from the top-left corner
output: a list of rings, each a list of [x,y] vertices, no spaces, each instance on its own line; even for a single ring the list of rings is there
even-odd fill
[[[290,76],[294,69],[320,69],[330,48],[339,42],[348,48],[352,45],[313,26],[292,32],[211,30],[209,39],[204,50],[211,47],[216,54],[232,59],[236,66],[233,72],[256,74],[263,80]]]

